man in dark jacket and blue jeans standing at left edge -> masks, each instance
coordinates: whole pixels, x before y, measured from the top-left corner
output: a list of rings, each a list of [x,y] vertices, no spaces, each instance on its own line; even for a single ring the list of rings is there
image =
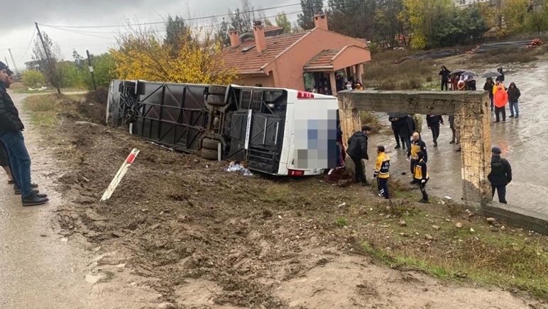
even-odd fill
[[[23,121],[6,91],[13,83],[13,72],[0,62],[0,166],[6,171],[13,193],[21,195],[23,206],[43,205],[48,195],[40,193],[31,182],[31,158],[23,138]]]

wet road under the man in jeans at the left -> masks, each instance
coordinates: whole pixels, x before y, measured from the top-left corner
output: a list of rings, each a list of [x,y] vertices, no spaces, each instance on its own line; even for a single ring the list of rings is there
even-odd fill
[[[12,94],[20,111],[24,96]],[[94,284],[89,280],[94,278],[90,276],[94,271],[94,256],[82,246],[74,245],[77,242],[74,237],[65,238],[58,233],[55,211],[63,201],[48,177],[58,172],[55,161],[48,156],[48,144],[40,140],[28,116],[23,114],[22,118],[27,127],[24,136],[32,159],[33,182],[40,185],[40,191],[47,193],[51,201],[47,205],[22,207],[21,195],[13,194],[13,186],[8,185],[4,170],[0,170],[0,308],[141,308],[148,305],[141,301],[146,292],[131,295],[131,288],[121,285],[111,288],[112,283]],[[129,282],[127,285],[130,286]]]

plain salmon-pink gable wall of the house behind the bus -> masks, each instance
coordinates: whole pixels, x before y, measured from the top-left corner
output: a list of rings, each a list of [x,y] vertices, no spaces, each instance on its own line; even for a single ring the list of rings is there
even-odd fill
[[[365,46],[366,43],[339,33],[314,29],[297,45],[268,65],[267,69],[273,71],[275,87],[303,90],[305,82],[302,78],[302,67],[322,50],[340,49],[346,45]],[[369,59],[371,59],[371,54]]]

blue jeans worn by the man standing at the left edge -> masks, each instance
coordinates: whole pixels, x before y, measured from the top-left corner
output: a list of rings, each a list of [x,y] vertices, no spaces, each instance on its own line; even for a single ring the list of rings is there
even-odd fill
[[[23,132],[9,132],[0,137],[6,145],[11,174],[16,185],[21,188],[21,197],[33,195],[31,188],[31,157],[23,139]]]

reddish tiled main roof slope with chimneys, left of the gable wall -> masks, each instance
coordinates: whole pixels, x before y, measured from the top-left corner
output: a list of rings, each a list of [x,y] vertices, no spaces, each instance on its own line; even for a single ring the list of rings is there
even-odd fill
[[[297,42],[303,36],[306,36],[309,31],[300,33],[283,34],[280,36],[266,36],[266,50],[258,54],[255,47],[255,40],[242,42],[237,48],[224,48],[221,59],[224,67],[227,69],[235,69],[236,72],[261,72],[261,67],[270,63],[277,55],[280,55],[285,49]],[[253,47],[253,48],[251,48]],[[251,48],[246,52],[246,48]]]

